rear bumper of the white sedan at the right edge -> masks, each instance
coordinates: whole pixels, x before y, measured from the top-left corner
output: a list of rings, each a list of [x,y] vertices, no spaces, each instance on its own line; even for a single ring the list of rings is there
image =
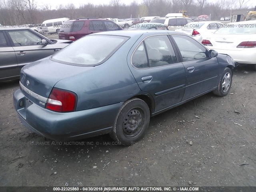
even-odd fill
[[[218,53],[228,54],[236,63],[239,64],[256,64],[256,50],[250,50],[250,48],[244,48],[244,50],[223,50],[214,49],[208,46],[209,49],[216,50]]]

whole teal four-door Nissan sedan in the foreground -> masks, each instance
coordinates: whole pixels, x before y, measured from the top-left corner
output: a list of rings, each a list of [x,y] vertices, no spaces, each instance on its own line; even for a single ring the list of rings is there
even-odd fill
[[[178,32],[96,33],[24,66],[14,105],[22,123],[46,138],[109,133],[130,145],[150,116],[208,92],[226,96],[233,68],[230,56]]]

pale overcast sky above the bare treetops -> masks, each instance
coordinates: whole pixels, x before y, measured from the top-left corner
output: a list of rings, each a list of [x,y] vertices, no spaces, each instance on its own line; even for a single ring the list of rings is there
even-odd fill
[[[133,0],[120,0],[120,3],[124,4],[130,4]],[[238,0],[235,0],[238,2]],[[245,0],[247,1],[247,0]],[[59,4],[69,4],[73,3],[76,7],[79,7],[81,4],[88,4],[89,2],[92,4],[109,4],[110,0],[36,0],[38,6],[43,6],[44,4],[48,4],[49,7],[51,6],[51,9],[55,9],[56,6]],[[143,0],[136,0],[136,2],[141,3]],[[207,0],[207,2],[216,2],[216,0]],[[255,0],[250,0],[247,4],[247,6],[256,6]]]

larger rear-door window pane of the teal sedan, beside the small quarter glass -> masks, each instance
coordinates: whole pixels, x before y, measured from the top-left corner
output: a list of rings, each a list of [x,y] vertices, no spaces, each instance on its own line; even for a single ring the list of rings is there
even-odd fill
[[[150,67],[177,63],[177,58],[168,36],[152,36],[145,39]]]

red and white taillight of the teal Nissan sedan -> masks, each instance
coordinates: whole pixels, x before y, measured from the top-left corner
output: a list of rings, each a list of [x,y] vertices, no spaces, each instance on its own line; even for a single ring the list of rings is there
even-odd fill
[[[46,109],[55,112],[72,112],[76,109],[76,94],[53,88],[47,99]]]

